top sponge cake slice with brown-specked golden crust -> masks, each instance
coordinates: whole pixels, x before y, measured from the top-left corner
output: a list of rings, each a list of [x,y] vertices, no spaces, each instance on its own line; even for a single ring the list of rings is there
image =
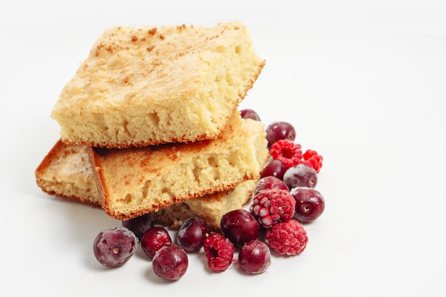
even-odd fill
[[[51,113],[72,145],[124,148],[217,138],[264,66],[244,24],[114,27]]]

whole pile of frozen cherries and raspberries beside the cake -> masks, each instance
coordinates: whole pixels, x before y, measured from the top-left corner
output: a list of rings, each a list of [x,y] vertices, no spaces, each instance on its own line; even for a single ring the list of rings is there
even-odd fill
[[[241,114],[260,120],[254,110]],[[224,214],[220,232],[210,230],[202,219],[190,218],[180,226],[174,242],[165,227],[154,226],[152,214],[145,214],[123,221],[120,228],[101,231],[93,245],[96,259],[105,266],[121,266],[135,254],[140,241],[154,273],[177,281],[187,271],[187,254],[201,249],[211,271],[226,271],[238,256],[240,269],[249,274],[268,269],[271,251],[284,256],[301,254],[308,243],[304,224],[321,216],[325,200],[314,189],[322,157],[314,150],[302,152],[295,137],[289,123],[266,127],[270,159],[261,171],[249,210]]]

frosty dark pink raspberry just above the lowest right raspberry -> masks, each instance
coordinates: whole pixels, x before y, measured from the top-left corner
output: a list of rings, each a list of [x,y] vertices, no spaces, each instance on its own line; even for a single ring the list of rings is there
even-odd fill
[[[296,200],[286,189],[262,189],[254,196],[250,211],[262,226],[271,228],[291,219],[295,207]]]

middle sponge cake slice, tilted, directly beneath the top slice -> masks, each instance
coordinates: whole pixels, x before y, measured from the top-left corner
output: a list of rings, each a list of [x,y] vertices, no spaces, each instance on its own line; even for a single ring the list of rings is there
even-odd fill
[[[125,220],[258,179],[266,145],[264,124],[237,112],[215,140],[89,154],[103,209]]]

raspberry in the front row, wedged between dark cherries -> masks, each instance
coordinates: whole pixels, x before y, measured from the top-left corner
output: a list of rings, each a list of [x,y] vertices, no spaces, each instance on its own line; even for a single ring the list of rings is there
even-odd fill
[[[225,271],[234,258],[234,244],[222,234],[211,231],[204,239],[204,253],[207,265],[214,272]]]

